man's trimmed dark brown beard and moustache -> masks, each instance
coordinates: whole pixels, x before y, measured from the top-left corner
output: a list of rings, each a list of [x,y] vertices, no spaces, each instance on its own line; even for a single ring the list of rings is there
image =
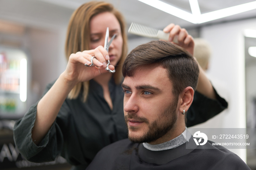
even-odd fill
[[[134,143],[150,143],[154,142],[155,140],[161,138],[167,132],[172,130],[174,127],[176,121],[177,121],[177,115],[176,115],[176,108],[178,104],[178,98],[175,97],[173,102],[169,105],[168,108],[163,111],[156,120],[154,120],[152,123],[149,123],[148,120],[145,117],[139,117],[136,115],[136,113],[128,113],[125,116],[125,122],[127,122],[128,119],[134,119],[136,121],[141,121],[146,123],[148,126],[148,131],[145,131],[142,136],[130,136],[128,133],[128,138],[131,140],[131,142]],[[126,123],[127,125],[127,123]],[[136,130],[137,127],[128,127],[128,131]]]

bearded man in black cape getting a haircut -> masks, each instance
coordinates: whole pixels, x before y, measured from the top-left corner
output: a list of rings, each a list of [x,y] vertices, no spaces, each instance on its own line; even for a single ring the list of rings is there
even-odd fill
[[[197,146],[187,131],[185,113],[198,75],[195,59],[172,43],[152,41],[133,49],[122,84],[129,139],[103,148],[88,169],[249,169],[224,147],[206,141]]]

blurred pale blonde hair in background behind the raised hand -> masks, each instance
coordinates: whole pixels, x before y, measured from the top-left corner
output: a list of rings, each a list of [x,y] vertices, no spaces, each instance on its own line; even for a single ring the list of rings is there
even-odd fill
[[[195,38],[194,57],[203,70],[207,70],[211,57],[211,47],[209,43],[202,38]]]

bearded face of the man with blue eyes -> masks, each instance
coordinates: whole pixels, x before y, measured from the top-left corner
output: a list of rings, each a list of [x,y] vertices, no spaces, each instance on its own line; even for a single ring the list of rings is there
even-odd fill
[[[124,78],[122,87],[129,139],[151,144],[170,140],[177,128],[178,96],[172,93],[166,69],[157,64],[139,67],[132,77]]]

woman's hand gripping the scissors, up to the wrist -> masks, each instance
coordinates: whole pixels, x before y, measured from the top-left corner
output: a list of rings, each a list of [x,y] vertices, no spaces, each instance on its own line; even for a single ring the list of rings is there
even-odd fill
[[[95,66],[88,67],[93,56],[93,64]],[[93,50],[73,53],[69,56],[68,64],[64,71],[65,79],[75,83],[89,81],[102,73],[108,72],[105,70],[108,59],[109,54],[103,46],[98,46]],[[113,65],[109,65],[109,67],[111,70],[114,69]]]

